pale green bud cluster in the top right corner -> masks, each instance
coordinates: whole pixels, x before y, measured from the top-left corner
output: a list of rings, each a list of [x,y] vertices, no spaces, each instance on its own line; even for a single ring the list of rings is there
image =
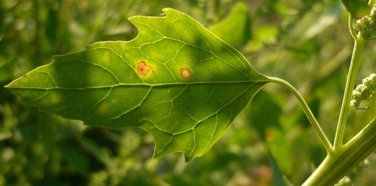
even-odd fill
[[[371,37],[372,30],[376,28],[376,3],[373,3],[371,14],[356,21],[354,28],[360,32],[363,38]]]

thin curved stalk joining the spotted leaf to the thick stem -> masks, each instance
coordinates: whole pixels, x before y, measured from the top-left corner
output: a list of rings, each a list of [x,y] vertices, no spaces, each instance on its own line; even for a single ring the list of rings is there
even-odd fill
[[[318,137],[320,138],[321,142],[323,142],[323,144],[326,148],[326,151],[328,152],[328,154],[331,154],[332,151],[333,151],[331,143],[329,143],[329,140],[325,136],[323,130],[320,127],[320,125],[318,125],[318,122],[317,122],[315,116],[312,114],[312,111],[309,109],[308,105],[306,104],[306,102],[304,101],[302,96],[299,94],[299,92],[291,84],[289,84],[287,81],[285,81],[283,79],[273,78],[273,77],[269,77],[269,79],[271,80],[271,82],[276,82],[278,84],[284,85],[294,94],[296,99],[299,101],[300,106],[302,106],[304,113],[308,117],[309,122],[311,122],[312,127],[315,129],[315,131],[316,131]]]

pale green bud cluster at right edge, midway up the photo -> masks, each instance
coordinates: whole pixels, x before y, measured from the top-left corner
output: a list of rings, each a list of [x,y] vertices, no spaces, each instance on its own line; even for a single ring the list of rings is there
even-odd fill
[[[365,109],[359,107],[360,102],[369,100],[373,94],[373,91],[376,91],[376,74],[371,74],[367,78],[364,78],[363,83],[358,85],[355,90],[353,90],[351,105],[353,105],[356,110]]]

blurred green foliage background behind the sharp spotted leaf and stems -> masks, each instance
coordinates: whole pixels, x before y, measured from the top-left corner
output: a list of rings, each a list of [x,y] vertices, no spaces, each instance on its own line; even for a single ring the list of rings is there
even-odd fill
[[[138,30],[128,17],[163,16],[165,7],[191,15],[259,72],[293,84],[333,141],[353,47],[337,0],[1,0],[0,186],[271,186],[280,181],[276,167],[294,185],[308,178],[326,151],[280,85],[265,85],[188,163],[182,153],[152,159],[155,142],[140,128],[88,127],[39,112],[3,87],[53,55],[131,40]],[[376,72],[375,52],[376,41],[367,42],[356,84]],[[375,105],[371,98],[361,105],[371,109],[351,108],[345,140],[376,116]],[[368,160],[354,185],[376,184],[375,154]]]

